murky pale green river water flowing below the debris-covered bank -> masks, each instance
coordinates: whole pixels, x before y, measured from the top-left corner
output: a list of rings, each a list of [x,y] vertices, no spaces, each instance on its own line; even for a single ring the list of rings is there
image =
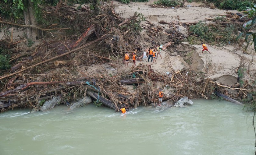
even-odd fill
[[[121,116],[94,104],[0,113],[0,155],[253,155],[252,112],[219,100],[138,107]]]

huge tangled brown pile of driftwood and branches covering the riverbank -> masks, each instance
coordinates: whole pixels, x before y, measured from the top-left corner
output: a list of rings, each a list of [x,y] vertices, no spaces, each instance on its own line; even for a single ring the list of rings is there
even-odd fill
[[[47,9],[47,12],[50,12],[51,8]],[[36,48],[27,49],[26,52],[10,59],[13,63],[12,68],[0,76],[1,111],[14,107],[39,109],[40,100],[49,100],[54,96],[60,96],[61,102],[67,104],[85,95],[114,110],[124,105],[137,107],[158,102],[156,94],[159,89],[156,87],[156,81],[176,89],[172,95],[166,94],[163,98],[163,100],[172,101],[184,96],[210,98],[219,87],[225,87],[202,76],[202,73],[186,69],[179,71],[172,69],[171,76],[158,74],[151,69],[150,65],[143,64],[125,71],[121,69],[125,51],[143,53],[149,48],[139,43],[141,37],[134,27],[134,23],[139,23],[140,20],[137,12],[134,16],[123,19],[115,12],[112,3],[102,5],[98,12],[92,12],[88,8],[76,10],[67,6],[59,7],[59,12],[61,11],[63,13],[54,12],[54,14],[58,18],[62,17],[62,21],[73,22],[72,24],[75,25],[73,29],[77,31],[73,31],[74,34],[71,35],[64,31],[66,29],[53,33],[48,31],[53,29],[40,28],[51,35],[62,36],[63,40],[43,41]],[[48,14],[45,16],[49,16]],[[6,21],[0,22],[15,25]],[[148,36],[153,36],[148,38],[150,47],[159,46],[159,38],[156,36],[167,36],[168,41],[161,41],[162,44],[165,43],[163,49],[168,48],[173,40],[184,37],[180,31],[176,30],[174,23],[169,24],[172,26],[169,31],[162,31],[162,26],[155,26],[149,21],[142,26],[147,30]],[[24,25],[16,24],[16,26]],[[24,41],[14,44],[7,38],[5,42],[7,42],[6,48],[20,49]],[[18,59],[21,60],[16,61]],[[101,69],[95,72],[95,75],[88,76],[78,67],[104,63],[115,68],[116,74],[110,76]],[[170,68],[172,68],[171,65]],[[202,78],[198,81],[199,74]],[[135,93],[130,93],[124,85],[132,85]],[[240,91],[246,94],[250,90],[240,89]]]

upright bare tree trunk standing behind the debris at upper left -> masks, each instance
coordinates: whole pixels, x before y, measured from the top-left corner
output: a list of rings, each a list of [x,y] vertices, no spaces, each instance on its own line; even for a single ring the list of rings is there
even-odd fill
[[[37,26],[33,2],[31,0],[23,0],[23,4],[25,6],[23,9],[25,24]],[[35,41],[39,37],[39,30],[37,28],[27,27],[26,32],[28,41]]]

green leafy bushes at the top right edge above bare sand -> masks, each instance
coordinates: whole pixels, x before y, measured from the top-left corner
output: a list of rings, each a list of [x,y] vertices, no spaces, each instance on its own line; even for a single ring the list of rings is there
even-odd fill
[[[253,4],[253,0],[209,0],[220,9],[245,10]]]

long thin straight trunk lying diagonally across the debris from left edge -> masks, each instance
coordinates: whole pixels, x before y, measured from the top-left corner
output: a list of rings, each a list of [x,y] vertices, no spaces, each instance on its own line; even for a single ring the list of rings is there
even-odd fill
[[[79,48],[73,49],[73,50],[71,50],[71,51],[69,51],[69,52],[66,52],[66,53],[63,53],[63,54],[61,54],[61,55],[55,56],[55,57],[50,58],[50,59],[48,59],[48,60],[39,62],[39,63],[37,63],[37,64],[35,64],[35,65],[29,66],[29,67],[27,67],[27,68],[25,68],[25,69],[22,69],[22,70],[20,70],[19,72],[15,72],[15,73],[12,73],[12,74],[3,76],[3,77],[1,77],[0,79],[5,79],[5,78],[7,78],[7,77],[9,77],[9,76],[13,76],[13,75],[19,74],[19,73],[21,73],[21,72],[23,72],[23,71],[25,71],[25,70],[27,70],[27,69],[30,69],[30,68],[33,68],[33,67],[35,67],[35,66],[44,64],[45,62],[49,62],[49,61],[52,61],[52,60],[54,60],[54,59],[56,59],[56,58],[62,57],[62,56],[64,56],[64,55],[68,55],[68,54],[70,54],[70,53],[72,53],[72,52],[74,52],[74,51],[77,51],[77,50],[80,50],[80,49],[82,49],[82,48],[84,48],[84,47],[86,47],[86,46],[89,46],[89,45],[91,45],[91,44],[93,44],[93,43],[95,43],[95,42],[97,42],[97,41],[101,41],[101,40],[105,39],[106,37],[107,37],[107,36],[102,36],[101,38],[96,39],[96,40],[94,40],[94,41],[91,41],[91,42],[89,42],[89,43],[87,43],[87,44],[85,44],[85,45],[83,45],[83,46],[81,46],[81,47],[79,47]]]

